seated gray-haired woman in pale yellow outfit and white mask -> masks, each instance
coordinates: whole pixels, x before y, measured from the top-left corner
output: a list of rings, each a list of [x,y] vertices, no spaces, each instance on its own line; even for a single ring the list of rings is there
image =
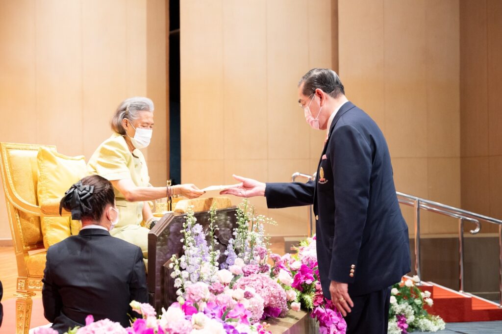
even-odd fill
[[[101,175],[113,185],[119,218],[111,235],[140,246],[145,258],[149,228],[155,219],[147,201],[171,195],[195,198],[204,193],[193,184],[151,186],[140,149],[150,144],[153,125],[151,99],[132,97],[122,101],[111,120],[114,134],[98,146],[87,164],[90,174]]]

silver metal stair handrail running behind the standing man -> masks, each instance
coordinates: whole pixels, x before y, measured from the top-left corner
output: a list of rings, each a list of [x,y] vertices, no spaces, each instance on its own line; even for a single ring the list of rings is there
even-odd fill
[[[296,178],[304,177],[308,180],[314,180],[314,175],[309,175],[305,173],[296,172],[291,176],[291,180],[294,182]],[[480,221],[486,221],[491,224],[498,225],[498,253],[499,253],[499,263],[498,263],[498,285],[499,285],[499,304],[498,307],[502,308],[502,220],[493,217],[488,217],[479,213],[467,211],[460,209],[458,207],[442,204],[425,198],[416,197],[410,194],[405,194],[403,192],[396,191],[396,195],[400,203],[405,205],[410,205],[415,208],[415,272],[418,277],[422,277],[420,274],[420,209],[431,211],[434,213],[439,213],[447,215],[458,219],[458,257],[459,257],[459,289],[460,292],[464,291],[464,221],[472,222],[476,225],[474,230],[470,230],[469,233],[475,235],[481,231]],[[310,219],[310,236],[313,233],[312,227],[312,205],[310,205],[309,211]],[[420,284],[420,283],[419,283]]]

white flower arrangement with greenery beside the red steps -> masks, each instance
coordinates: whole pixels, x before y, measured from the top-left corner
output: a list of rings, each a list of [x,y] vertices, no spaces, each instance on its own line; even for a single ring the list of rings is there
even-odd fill
[[[432,306],[429,291],[420,291],[415,285],[420,282],[418,276],[411,280],[396,283],[391,290],[389,310],[389,334],[402,334],[408,331],[438,331],[445,328],[445,322],[437,315],[429,314],[425,305]]]

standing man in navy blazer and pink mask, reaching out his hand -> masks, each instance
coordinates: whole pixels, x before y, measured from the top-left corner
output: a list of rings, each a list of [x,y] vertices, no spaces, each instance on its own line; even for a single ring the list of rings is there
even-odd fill
[[[235,177],[242,184],[222,194],[265,195],[270,208],[313,204],[324,296],[344,316],[348,334],[387,333],[390,286],[410,271],[410,250],[386,140],[347,100],[334,71],[310,70],[298,95],[309,125],[327,130],[315,181]]]

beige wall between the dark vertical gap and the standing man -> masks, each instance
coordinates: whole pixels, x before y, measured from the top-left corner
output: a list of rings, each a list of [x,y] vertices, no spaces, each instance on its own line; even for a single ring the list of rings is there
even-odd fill
[[[331,1],[193,0],[180,11],[182,181],[313,173],[325,134],[305,123],[297,82],[312,67],[331,67]],[[308,233],[307,207],[252,203],[279,222],[271,235]]]

